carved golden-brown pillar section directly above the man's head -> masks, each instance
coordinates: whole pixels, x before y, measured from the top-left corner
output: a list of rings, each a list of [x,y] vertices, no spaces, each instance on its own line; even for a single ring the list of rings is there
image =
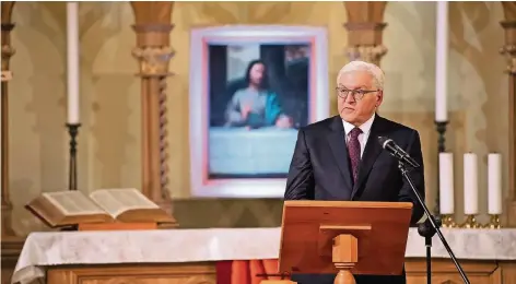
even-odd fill
[[[387,54],[383,45],[384,12],[387,2],[344,2],[348,12],[347,55],[350,60],[363,60],[379,66]]]

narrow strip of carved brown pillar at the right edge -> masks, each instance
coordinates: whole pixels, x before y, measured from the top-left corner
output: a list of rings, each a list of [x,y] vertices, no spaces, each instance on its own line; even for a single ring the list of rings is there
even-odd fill
[[[507,68],[505,72],[508,74],[508,97],[509,97],[509,155],[508,155],[508,190],[509,198],[505,210],[506,223],[509,226],[516,226],[516,2],[502,2],[504,9],[505,20],[501,22],[505,29],[505,44],[500,49],[500,52],[505,56],[507,60]]]

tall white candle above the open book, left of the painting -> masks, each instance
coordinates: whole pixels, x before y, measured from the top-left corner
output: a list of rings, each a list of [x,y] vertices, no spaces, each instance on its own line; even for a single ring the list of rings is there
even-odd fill
[[[67,3],[68,123],[79,123],[79,9]]]

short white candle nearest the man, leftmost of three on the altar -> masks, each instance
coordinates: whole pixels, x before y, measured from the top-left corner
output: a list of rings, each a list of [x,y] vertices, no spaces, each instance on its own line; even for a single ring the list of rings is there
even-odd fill
[[[454,155],[439,153],[439,212],[454,214]]]

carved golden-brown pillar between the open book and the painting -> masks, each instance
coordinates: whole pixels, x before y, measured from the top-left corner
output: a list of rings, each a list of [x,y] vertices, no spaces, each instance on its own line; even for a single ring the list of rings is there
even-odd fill
[[[131,2],[140,64],[142,105],[142,192],[172,214],[166,142],[166,79],[174,55],[169,34],[174,2]]]

